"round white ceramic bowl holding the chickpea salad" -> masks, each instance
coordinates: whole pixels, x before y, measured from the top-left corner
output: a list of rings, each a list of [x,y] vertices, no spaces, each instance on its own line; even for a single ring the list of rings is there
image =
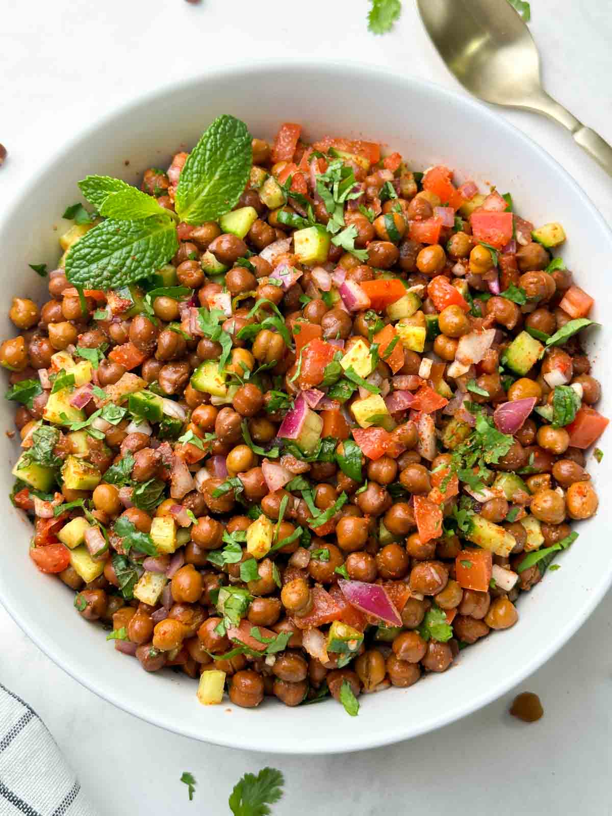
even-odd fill
[[[596,297],[595,317],[605,321],[612,236],[595,207],[548,153],[489,109],[440,87],[358,65],[266,64],[225,69],[156,92],[107,116],[78,135],[24,189],[0,219],[4,285],[0,335],[15,333],[7,319],[11,295],[44,298],[44,283],[28,263],[58,259],[59,214],[77,200],[77,181],[89,173],[138,182],[146,167],[165,166],[173,153],[193,146],[220,113],[270,137],[280,122],[302,122],[306,137],[362,136],[399,150],[415,169],[443,162],[486,188],[512,193],[516,209],[537,224],[558,220],[569,239],[562,249],[577,280]],[[125,162],[129,160],[129,166]],[[610,415],[612,379],[601,349],[607,322],[593,333],[595,375],[604,385],[599,406]],[[599,351],[599,353],[597,353]],[[4,428],[15,406],[0,401]],[[0,492],[11,490],[9,463],[17,445],[0,436],[6,463]],[[608,453],[610,455],[610,453]],[[591,470],[600,495],[609,484],[607,459]],[[562,554],[562,569],[521,596],[520,620],[464,651],[449,672],[425,677],[407,690],[361,697],[349,717],[333,701],[286,708],[266,700],[255,710],[229,703],[202,707],[196,684],[172,672],[145,674],[104,641],[104,634],[73,610],[73,593],[39,573],[28,557],[31,529],[3,502],[0,599],[20,627],[66,672],[127,712],[178,734],[211,743],[287,753],[354,751],[393,743],[446,725],[489,703],[534,672],[584,623],[612,579],[612,503],[603,500],[580,538]]]

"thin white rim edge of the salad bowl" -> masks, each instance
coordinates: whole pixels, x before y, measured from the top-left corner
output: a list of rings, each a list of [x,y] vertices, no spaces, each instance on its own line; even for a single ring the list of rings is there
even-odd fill
[[[38,184],[38,174],[49,171],[56,162],[60,162],[68,157],[69,153],[78,144],[83,144],[86,142],[86,140],[91,138],[91,135],[100,129],[100,127],[108,126],[113,121],[125,117],[126,113],[129,113],[130,110],[136,105],[146,103],[151,104],[155,100],[162,100],[166,98],[167,95],[174,91],[184,91],[193,86],[206,86],[206,82],[211,80],[214,81],[215,79],[219,78],[244,78],[246,73],[249,80],[252,81],[254,75],[257,73],[269,73],[270,71],[299,71],[299,73],[304,73],[311,70],[321,71],[322,69],[329,72],[355,72],[356,74],[368,73],[370,74],[370,77],[374,76],[375,78],[378,77],[386,81],[403,82],[408,85],[415,86],[421,91],[428,91],[433,97],[437,98],[437,100],[440,100],[441,102],[447,99],[455,104],[463,106],[463,108],[467,109],[468,111],[471,110],[479,118],[490,122],[495,128],[505,131],[508,135],[512,136],[514,140],[518,140],[519,142],[525,144],[526,148],[530,149],[532,153],[539,157],[540,161],[548,166],[553,173],[561,175],[565,181],[565,184],[569,185],[570,193],[579,198],[582,205],[585,206],[590,212],[593,220],[596,221],[600,228],[602,228],[603,231],[608,234],[610,237],[610,243],[612,243],[612,229],[610,229],[608,224],[605,222],[603,216],[598,211],[590,197],[588,197],[587,193],[583,191],[569,172],[565,170],[565,167],[562,166],[560,162],[557,162],[557,159],[552,157],[550,153],[540,147],[540,145],[531,139],[529,135],[526,135],[526,133],[521,131],[517,126],[513,125],[512,122],[509,122],[508,119],[504,118],[497,111],[495,111],[492,106],[482,104],[480,101],[472,98],[472,96],[465,95],[459,91],[450,90],[449,88],[438,85],[435,82],[414,77],[409,73],[398,73],[397,70],[389,69],[381,65],[367,64],[358,60],[287,60],[282,58],[275,60],[255,60],[255,62],[250,60],[248,63],[245,60],[228,62],[227,64],[207,70],[206,73],[179,78],[173,82],[167,83],[162,87],[156,87],[155,89],[146,91],[142,94],[131,95],[129,100],[123,102],[122,104],[118,104],[105,113],[102,113],[99,118],[96,118],[95,121],[83,128],[82,131],[78,131],[77,134],[73,135],[69,140],[66,140],[60,149],[55,150],[53,153],[50,153],[49,156],[38,162],[35,172],[26,177],[21,193],[16,193],[11,197],[9,207],[2,215],[0,215],[0,229],[10,221],[11,213],[20,211],[21,205],[34,192],[35,185]],[[2,573],[0,573],[0,586],[1,585]],[[388,729],[384,734],[377,733],[374,737],[370,737],[368,734],[361,731],[361,733],[347,735],[345,737],[346,741],[342,747],[339,747],[339,745],[330,747],[321,741],[316,745],[308,745],[307,750],[300,750],[299,747],[295,746],[295,743],[292,744],[290,742],[290,739],[282,738],[280,740],[281,746],[274,747],[273,752],[294,756],[315,756],[330,753],[363,751],[370,748],[398,743],[402,740],[418,737],[420,734],[437,730],[444,725],[450,725],[451,723],[462,719],[464,716],[468,716],[472,712],[477,711],[481,707],[486,706],[488,703],[493,702],[503,694],[506,694],[515,685],[521,681],[524,681],[527,676],[530,676],[539,667],[543,666],[544,663],[552,658],[553,654],[561,649],[561,646],[565,645],[565,643],[570,640],[570,637],[578,631],[583,623],[586,622],[589,615],[592,614],[593,610],[595,610],[596,606],[600,603],[601,599],[605,595],[605,592],[607,592],[610,588],[610,585],[612,585],[612,570],[610,570],[609,574],[605,574],[605,572],[601,574],[598,582],[593,584],[589,589],[589,592],[585,594],[583,604],[576,614],[574,614],[574,617],[570,623],[568,623],[565,628],[555,632],[548,639],[548,641],[543,644],[542,650],[539,650],[533,656],[526,659],[526,661],[521,663],[521,665],[514,671],[508,672],[505,679],[492,685],[490,690],[481,693],[477,697],[468,698],[460,703],[455,703],[450,708],[447,707],[444,713],[432,714],[432,716],[428,717],[428,719],[422,720],[420,725],[416,728],[414,725],[410,726],[409,724],[406,724],[406,722],[402,721],[401,718],[398,718],[395,723],[388,725]],[[158,714],[153,707],[149,707],[149,711],[144,712],[142,711],[143,707],[139,707],[138,703],[131,703],[131,701],[122,698],[119,686],[117,686],[117,689],[114,692],[113,690],[101,690],[96,688],[95,681],[93,681],[91,677],[87,677],[86,672],[80,671],[78,668],[73,667],[68,656],[64,659],[62,654],[57,654],[53,641],[44,638],[44,636],[42,636],[42,632],[39,634],[35,624],[30,625],[27,620],[22,619],[17,605],[11,605],[2,596],[0,596],[0,603],[2,603],[3,607],[7,610],[8,614],[11,615],[11,618],[20,627],[20,629],[25,632],[25,634],[29,636],[30,640],[32,640],[38,646],[38,648],[42,650],[42,652],[46,654],[47,657],[49,657],[57,666],[62,668],[64,672],[73,677],[74,680],[78,681],[78,683],[84,686],[87,690],[97,694],[100,698],[103,698],[105,701],[122,709],[122,711],[136,716],[140,720],[149,722],[152,725],[157,725],[164,730],[169,730],[174,734],[180,734],[181,736],[193,738],[200,742],[249,750],[253,752],[270,752],[268,746],[266,746],[265,743],[262,743],[261,740],[254,738],[248,730],[240,732],[239,736],[236,735],[235,737],[233,734],[229,734],[228,737],[225,737],[223,733],[216,734],[214,737],[198,734],[197,721],[195,720],[193,727],[176,724],[171,720],[170,712],[166,716],[163,713]]]

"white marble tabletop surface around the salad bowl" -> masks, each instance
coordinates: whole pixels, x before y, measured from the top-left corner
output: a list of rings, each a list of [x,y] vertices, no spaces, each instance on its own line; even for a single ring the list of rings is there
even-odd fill
[[[265,55],[325,55],[392,66],[456,87],[411,0],[404,0],[400,23],[383,38],[366,32],[366,0],[203,0],[199,6],[184,0],[2,0],[0,5],[0,141],[10,153],[0,171],[2,206],[84,122],[142,91],[206,73],[207,65]],[[532,0],[531,5],[548,90],[612,141],[609,0]],[[569,135],[534,114],[502,115],[557,157],[612,220],[612,181]],[[101,816],[128,810],[222,816],[237,778],[264,765],[286,774],[286,794],[275,816],[332,810],[366,816],[425,808],[604,816],[612,814],[610,619],[609,594],[570,643],[521,685],[543,700],[539,723],[526,726],[508,716],[513,696],[508,694],[434,734],[348,756],[258,756],[166,734],[104,703],[61,672],[2,607],[0,681],[47,721]],[[184,770],[198,781],[193,803],[179,782]]]

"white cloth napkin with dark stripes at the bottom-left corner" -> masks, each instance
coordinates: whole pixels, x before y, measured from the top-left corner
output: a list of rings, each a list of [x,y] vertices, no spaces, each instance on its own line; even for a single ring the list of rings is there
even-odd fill
[[[95,816],[38,714],[2,684],[0,816]]]

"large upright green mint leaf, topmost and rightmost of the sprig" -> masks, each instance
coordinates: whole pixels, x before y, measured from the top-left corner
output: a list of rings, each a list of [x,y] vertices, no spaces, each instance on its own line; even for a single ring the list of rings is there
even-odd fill
[[[224,113],[189,154],[176,188],[176,212],[187,224],[214,221],[236,206],[251,173],[251,134]]]

